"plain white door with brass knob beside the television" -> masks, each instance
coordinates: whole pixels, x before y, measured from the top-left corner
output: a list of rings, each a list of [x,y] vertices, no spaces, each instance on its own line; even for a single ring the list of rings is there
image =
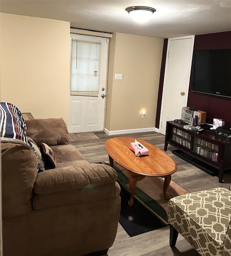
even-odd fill
[[[165,135],[166,121],[180,119],[182,107],[186,107],[193,44],[194,35],[168,40],[160,115],[161,134]]]

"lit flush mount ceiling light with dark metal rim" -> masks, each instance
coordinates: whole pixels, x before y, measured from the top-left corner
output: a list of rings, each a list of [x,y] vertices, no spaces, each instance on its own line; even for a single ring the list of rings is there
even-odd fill
[[[126,11],[131,15],[133,20],[142,23],[151,18],[156,9],[145,6],[133,6],[126,8]]]

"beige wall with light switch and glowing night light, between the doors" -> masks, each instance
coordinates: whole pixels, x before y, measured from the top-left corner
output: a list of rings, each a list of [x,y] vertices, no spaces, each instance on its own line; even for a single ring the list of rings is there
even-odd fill
[[[109,44],[105,128],[155,127],[164,39],[114,33]],[[122,73],[122,80],[115,80]],[[145,118],[141,111],[145,110]]]

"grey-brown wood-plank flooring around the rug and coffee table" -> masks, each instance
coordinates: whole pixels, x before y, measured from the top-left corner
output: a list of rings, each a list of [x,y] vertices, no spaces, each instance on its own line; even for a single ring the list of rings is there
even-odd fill
[[[161,150],[164,150],[165,136],[157,132],[130,133],[124,135],[106,135],[104,132],[96,132],[99,140],[72,142],[80,150],[83,156],[91,163],[108,161],[105,150],[105,141],[113,137],[134,137],[137,140],[145,140]],[[166,153],[173,158],[178,166],[172,175],[172,180],[190,192],[200,191],[215,187],[229,188],[231,184],[231,171],[225,172],[223,183],[218,182],[218,176],[211,176],[199,168],[191,165],[174,155],[168,146]],[[176,246],[169,245],[169,226],[153,230],[138,236],[130,237],[120,224],[118,224],[117,236],[113,246],[109,248],[105,256],[198,256],[194,248],[179,235]]]

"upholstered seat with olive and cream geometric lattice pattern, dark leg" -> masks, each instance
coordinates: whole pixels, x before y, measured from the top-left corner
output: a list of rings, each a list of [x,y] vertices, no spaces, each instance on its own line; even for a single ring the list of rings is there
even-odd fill
[[[231,191],[214,188],[169,200],[170,246],[180,233],[200,255],[231,255]]]

